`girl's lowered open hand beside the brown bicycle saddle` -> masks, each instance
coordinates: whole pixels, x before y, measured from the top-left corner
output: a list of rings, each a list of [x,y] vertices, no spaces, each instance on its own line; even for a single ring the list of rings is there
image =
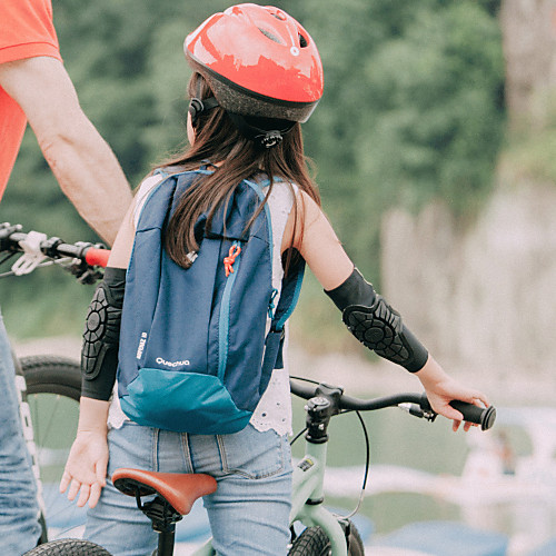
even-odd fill
[[[60,481],[60,493],[69,487],[69,500],[73,500],[79,493],[78,507],[83,507],[89,502],[89,507],[93,508],[106,486],[107,467],[106,434],[78,431]]]

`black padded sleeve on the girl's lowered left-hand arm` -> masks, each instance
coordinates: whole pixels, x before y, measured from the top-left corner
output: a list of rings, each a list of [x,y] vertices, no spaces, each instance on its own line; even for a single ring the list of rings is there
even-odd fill
[[[87,312],[81,349],[81,396],[108,401],[116,381],[126,270],[105,270]]]

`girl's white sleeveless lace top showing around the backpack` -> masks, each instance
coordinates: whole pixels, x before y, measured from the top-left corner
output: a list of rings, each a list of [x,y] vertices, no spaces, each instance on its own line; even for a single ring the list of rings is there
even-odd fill
[[[136,196],[135,225],[139,221],[141,209],[152,190],[161,180],[160,176],[151,176],[143,180]],[[296,189],[296,186],[294,186]],[[265,190],[265,189],[264,189]],[[265,190],[266,192],[266,190]],[[270,218],[272,224],[272,286],[280,291],[284,269],[281,266],[281,241],[286,222],[294,206],[294,196],[287,183],[275,182],[268,198]],[[267,321],[270,326],[270,319]],[[289,390],[288,371],[288,329],[286,325],[286,339],[284,342],[284,368],[275,369],[270,377],[267,390],[262,395],[251,417],[251,425],[260,431],[274,429],[279,435],[291,434],[291,396]],[[123,414],[118,398],[118,385],[115,386],[108,426],[120,428],[129,418]]]

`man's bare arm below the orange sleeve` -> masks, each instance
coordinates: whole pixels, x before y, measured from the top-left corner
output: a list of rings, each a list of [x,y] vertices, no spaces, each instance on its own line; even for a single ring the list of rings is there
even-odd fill
[[[111,245],[131,191],[110,147],[81,110],[63,64],[49,57],[2,63],[0,85],[26,112],[62,191]]]

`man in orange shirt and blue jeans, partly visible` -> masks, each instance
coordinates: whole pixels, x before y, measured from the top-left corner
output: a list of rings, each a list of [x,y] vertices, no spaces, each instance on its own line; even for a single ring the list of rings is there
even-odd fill
[[[51,0],[0,3],[0,198],[27,121],[63,192],[112,244],[131,192],[110,147],[79,106],[61,61]],[[13,377],[0,315],[0,553],[10,556],[31,549],[40,536]]]

